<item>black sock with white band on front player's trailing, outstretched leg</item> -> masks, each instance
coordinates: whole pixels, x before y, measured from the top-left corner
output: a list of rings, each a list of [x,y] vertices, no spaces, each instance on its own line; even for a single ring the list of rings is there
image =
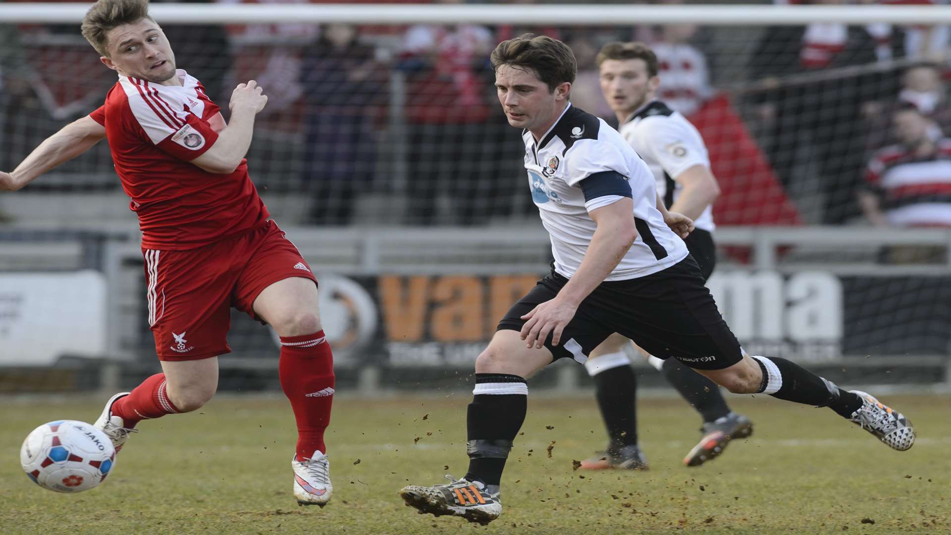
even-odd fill
[[[828,406],[848,418],[862,406],[862,398],[832,382],[779,357],[754,357],[763,371],[758,392],[774,398],[811,406]]]

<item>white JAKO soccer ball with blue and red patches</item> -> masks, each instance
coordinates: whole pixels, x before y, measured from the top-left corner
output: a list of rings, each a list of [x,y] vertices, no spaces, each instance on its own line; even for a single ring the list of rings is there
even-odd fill
[[[33,483],[56,492],[81,492],[102,483],[116,450],[101,430],[59,420],[33,429],[20,448],[20,464]]]

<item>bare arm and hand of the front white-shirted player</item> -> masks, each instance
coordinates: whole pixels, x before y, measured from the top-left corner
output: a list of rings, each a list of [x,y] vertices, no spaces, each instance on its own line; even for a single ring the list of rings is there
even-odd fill
[[[597,229],[578,270],[553,300],[522,316],[528,320],[521,331],[528,347],[542,347],[550,332],[553,333],[552,344],[561,343],[561,333],[572,321],[581,301],[604,282],[637,238],[633,211],[631,198],[623,197],[589,212]]]

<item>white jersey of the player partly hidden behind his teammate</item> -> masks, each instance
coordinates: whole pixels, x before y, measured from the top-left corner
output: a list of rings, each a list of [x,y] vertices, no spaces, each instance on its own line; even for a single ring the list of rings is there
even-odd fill
[[[667,208],[683,188],[675,180],[680,173],[696,165],[710,167],[707,146],[700,132],[679,111],[670,109],[659,100],[631,113],[620,126],[620,131],[647,162]],[[705,208],[693,223],[697,228],[713,231],[712,209]]]

